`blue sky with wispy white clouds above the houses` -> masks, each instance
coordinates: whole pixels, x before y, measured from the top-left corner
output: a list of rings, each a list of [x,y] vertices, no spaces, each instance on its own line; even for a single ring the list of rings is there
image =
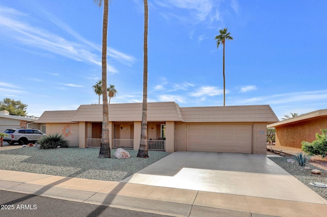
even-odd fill
[[[269,104],[279,119],[327,108],[326,1],[148,0],[148,101]],[[143,1],[112,0],[108,26],[111,103],[142,102]],[[98,103],[103,8],[93,0],[0,1],[0,100],[29,115]]]

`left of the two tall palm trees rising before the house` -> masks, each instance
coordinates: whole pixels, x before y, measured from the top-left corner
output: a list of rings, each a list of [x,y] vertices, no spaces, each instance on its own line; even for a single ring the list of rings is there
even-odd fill
[[[102,0],[94,0],[101,7]],[[109,0],[103,0],[103,25],[102,25],[102,137],[99,158],[110,158],[109,143],[109,111],[107,96],[107,32]]]

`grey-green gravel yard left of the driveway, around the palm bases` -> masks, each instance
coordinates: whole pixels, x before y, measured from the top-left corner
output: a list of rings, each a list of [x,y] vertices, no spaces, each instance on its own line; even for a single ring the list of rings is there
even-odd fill
[[[131,157],[98,158],[98,148],[39,149],[37,147],[0,148],[0,169],[20,172],[121,181],[169,155],[164,151],[149,151],[149,158],[136,157],[137,151],[127,150]]]

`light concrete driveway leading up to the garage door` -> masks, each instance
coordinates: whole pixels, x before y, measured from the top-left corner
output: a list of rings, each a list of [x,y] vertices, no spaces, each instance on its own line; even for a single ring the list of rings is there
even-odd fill
[[[266,155],[174,152],[122,182],[327,204]]]

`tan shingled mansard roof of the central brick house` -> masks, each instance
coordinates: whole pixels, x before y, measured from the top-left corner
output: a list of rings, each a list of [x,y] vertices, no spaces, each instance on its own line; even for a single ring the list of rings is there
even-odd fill
[[[109,121],[141,121],[142,103],[109,104]],[[80,105],[76,111],[44,112],[37,123],[102,122],[102,104]],[[278,118],[269,105],[179,107],[175,102],[149,102],[148,121],[267,122]]]

